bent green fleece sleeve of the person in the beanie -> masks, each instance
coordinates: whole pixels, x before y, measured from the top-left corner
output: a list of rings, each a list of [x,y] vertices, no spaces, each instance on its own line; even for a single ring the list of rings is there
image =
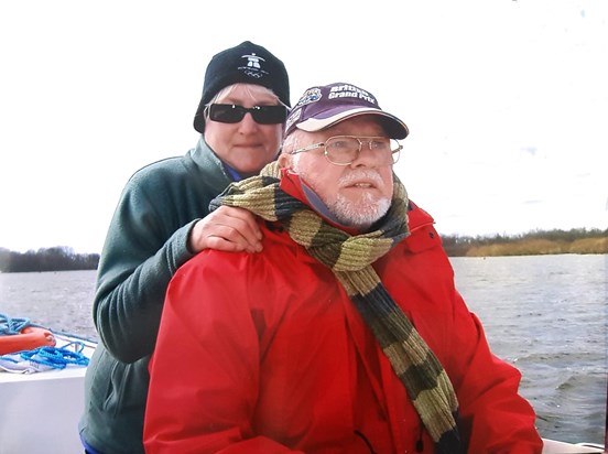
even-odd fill
[[[169,281],[192,255],[196,219],[172,226],[130,181],[108,229],[97,274],[94,322],[112,356],[133,363],[152,353]]]

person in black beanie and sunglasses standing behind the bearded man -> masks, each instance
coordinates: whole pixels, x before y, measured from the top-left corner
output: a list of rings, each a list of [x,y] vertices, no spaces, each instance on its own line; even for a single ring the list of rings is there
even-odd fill
[[[249,41],[209,62],[194,117],[195,148],[127,182],[99,261],[93,316],[99,334],[78,424],[86,453],[143,453],[150,376],[169,281],[204,249],[258,252],[253,216],[209,202],[273,161],[290,107],[285,65]]]

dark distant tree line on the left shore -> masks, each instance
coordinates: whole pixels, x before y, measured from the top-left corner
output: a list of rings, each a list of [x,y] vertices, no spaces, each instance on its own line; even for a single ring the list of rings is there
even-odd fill
[[[98,263],[98,253],[76,253],[65,246],[28,252],[0,248],[0,272],[96,270]]]

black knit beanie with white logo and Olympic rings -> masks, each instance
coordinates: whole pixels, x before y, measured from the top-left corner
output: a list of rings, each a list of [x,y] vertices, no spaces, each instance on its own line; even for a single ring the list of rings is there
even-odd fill
[[[194,129],[205,131],[205,105],[222,88],[232,84],[256,84],[270,88],[286,106],[290,104],[290,79],[285,65],[264,47],[245,41],[214,55],[203,84],[203,97],[194,116]]]

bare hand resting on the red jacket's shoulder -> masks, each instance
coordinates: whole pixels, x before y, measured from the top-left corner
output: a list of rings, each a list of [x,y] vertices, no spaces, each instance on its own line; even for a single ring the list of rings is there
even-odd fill
[[[203,249],[259,252],[261,239],[262,233],[252,213],[221,206],[195,224],[188,247],[195,253]]]

